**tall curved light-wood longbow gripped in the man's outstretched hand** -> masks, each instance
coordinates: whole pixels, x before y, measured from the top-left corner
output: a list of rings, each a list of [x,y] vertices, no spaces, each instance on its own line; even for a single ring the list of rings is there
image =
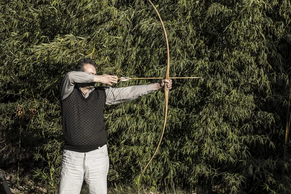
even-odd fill
[[[152,5],[152,7],[155,9],[157,15],[159,16],[161,24],[162,24],[162,29],[163,29],[163,32],[165,34],[166,45],[167,45],[167,70],[166,70],[165,79],[169,80],[170,79],[170,49],[169,49],[168,35],[167,35],[165,26],[163,24],[162,18],[160,16],[158,10],[156,9],[155,5],[151,2],[151,0],[148,0],[148,1]],[[169,88],[167,87],[167,83],[164,83],[164,94],[165,94],[165,116],[164,116],[164,123],[163,123],[160,142],[159,142],[154,154],[152,155],[151,159],[149,160],[149,162],[147,162],[145,168],[143,169],[143,171],[142,171],[143,174],[145,173],[147,166],[150,164],[150,162],[153,160],[153,158],[155,157],[156,153],[158,152],[158,149],[159,149],[159,147],[161,145],[162,137],[163,137],[163,134],[164,134],[164,131],[165,131],[165,128],[166,128],[167,113],[168,113],[168,100],[169,100]]]

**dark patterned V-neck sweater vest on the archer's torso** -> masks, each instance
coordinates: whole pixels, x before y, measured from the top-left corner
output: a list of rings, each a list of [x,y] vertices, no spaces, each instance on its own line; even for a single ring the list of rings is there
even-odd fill
[[[76,87],[62,100],[64,149],[89,152],[107,143],[103,108],[106,94],[95,88],[87,98]]]

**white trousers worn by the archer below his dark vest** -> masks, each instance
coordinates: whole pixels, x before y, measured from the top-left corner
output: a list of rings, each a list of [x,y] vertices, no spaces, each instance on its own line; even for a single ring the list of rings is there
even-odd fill
[[[83,180],[89,194],[106,194],[108,169],[106,145],[90,152],[64,150],[59,194],[80,194]]]

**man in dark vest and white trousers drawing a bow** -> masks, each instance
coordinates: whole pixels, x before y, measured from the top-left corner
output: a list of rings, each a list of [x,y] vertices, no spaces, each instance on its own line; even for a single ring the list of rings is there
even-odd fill
[[[83,180],[90,194],[107,193],[109,158],[104,124],[105,104],[118,104],[161,89],[171,80],[125,88],[97,87],[95,82],[117,83],[117,76],[95,75],[96,64],[82,59],[77,71],[66,74],[61,86],[65,139],[59,194],[80,194]]]

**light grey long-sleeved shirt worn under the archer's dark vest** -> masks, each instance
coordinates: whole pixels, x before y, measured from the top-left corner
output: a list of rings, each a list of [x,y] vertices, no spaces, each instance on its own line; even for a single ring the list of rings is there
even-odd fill
[[[81,71],[68,72],[62,82],[61,86],[61,99],[68,97],[73,91],[75,84],[90,83],[94,81],[94,75]],[[106,93],[106,104],[118,104],[134,100],[138,97],[144,96],[154,92],[153,84],[148,85],[134,85],[122,88],[104,87]],[[95,88],[89,90],[83,96],[86,98]]]

